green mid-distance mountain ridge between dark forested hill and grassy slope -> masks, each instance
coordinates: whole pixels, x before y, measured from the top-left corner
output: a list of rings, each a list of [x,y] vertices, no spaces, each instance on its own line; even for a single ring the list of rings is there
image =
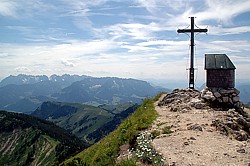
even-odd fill
[[[54,122],[93,144],[113,131],[137,107],[133,103],[95,107],[77,103],[44,102],[31,115]]]

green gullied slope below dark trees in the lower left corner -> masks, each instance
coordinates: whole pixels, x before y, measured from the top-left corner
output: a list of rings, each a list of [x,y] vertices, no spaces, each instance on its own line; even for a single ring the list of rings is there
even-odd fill
[[[0,165],[52,165],[58,141],[27,128],[0,133]]]

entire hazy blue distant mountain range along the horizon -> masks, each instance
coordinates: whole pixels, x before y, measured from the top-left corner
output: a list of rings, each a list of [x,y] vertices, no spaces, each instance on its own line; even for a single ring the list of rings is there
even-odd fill
[[[0,82],[0,109],[32,112],[43,102],[75,102],[90,105],[141,103],[164,88],[146,81],[78,75],[9,76]]]

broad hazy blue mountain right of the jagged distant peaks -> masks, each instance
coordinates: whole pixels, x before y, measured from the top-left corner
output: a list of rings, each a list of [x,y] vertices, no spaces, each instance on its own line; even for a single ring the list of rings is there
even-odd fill
[[[141,103],[145,97],[155,95],[157,90],[145,81],[121,78],[86,78],[54,94],[58,101],[98,102],[118,104]]]

